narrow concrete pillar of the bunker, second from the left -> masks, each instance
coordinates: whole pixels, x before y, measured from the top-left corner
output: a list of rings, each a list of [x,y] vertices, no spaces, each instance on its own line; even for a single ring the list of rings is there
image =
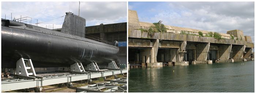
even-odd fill
[[[180,42],[180,48],[177,50],[177,61],[183,61],[184,58],[184,53],[186,50],[186,46],[187,46],[187,41],[182,41]]]

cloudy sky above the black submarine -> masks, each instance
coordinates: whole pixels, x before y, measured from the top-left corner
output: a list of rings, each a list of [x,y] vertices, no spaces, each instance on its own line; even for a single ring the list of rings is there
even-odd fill
[[[11,15],[12,19],[31,17],[32,25],[36,25],[37,20],[38,23],[47,21],[38,26],[46,28],[47,25],[48,29],[61,28],[66,12],[79,15],[79,2],[1,2],[1,18],[5,19],[5,15],[8,20]],[[127,2],[80,1],[80,16],[86,19],[86,26],[127,22]]]

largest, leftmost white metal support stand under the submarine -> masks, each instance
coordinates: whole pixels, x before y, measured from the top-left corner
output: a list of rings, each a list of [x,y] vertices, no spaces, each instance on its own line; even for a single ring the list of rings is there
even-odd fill
[[[29,75],[34,75],[35,74],[35,69],[33,67],[31,59],[23,59],[20,58],[17,63],[16,63],[16,75],[22,75],[29,77]]]

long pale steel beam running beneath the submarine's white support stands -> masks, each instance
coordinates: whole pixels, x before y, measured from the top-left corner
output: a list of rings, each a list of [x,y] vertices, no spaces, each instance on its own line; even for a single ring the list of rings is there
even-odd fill
[[[1,79],[1,91],[27,89],[33,87],[41,87],[47,85],[54,85],[59,83],[67,83],[80,81],[84,79],[92,79],[98,77],[105,77],[116,74],[127,73],[127,69],[112,69],[98,72],[70,72],[59,73],[57,75],[45,75],[42,78],[35,79],[20,79],[20,78],[7,78]]]

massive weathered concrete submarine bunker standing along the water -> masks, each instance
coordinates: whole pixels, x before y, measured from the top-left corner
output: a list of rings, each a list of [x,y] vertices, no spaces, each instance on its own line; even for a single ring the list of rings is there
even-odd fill
[[[165,25],[167,32],[151,34],[138,30],[148,30],[150,26],[154,26],[153,23],[140,22],[137,12],[128,10],[130,64],[142,63],[143,66],[143,63],[146,63],[147,66],[150,63],[166,62],[171,66],[244,61],[244,58],[253,60],[254,44],[250,36],[244,36],[242,30],[230,30],[227,34],[219,33],[222,39],[196,36],[199,35],[199,31],[203,36],[214,32],[169,25]]]

